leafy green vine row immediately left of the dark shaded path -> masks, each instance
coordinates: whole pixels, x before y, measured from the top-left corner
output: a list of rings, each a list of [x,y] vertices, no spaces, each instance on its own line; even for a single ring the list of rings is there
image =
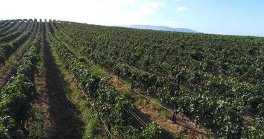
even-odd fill
[[[37,28],[36,28],[37,29]],[[24,138],[24,118],[34,92],[33,75],[36,72],[40,48],[40,28],[29,51],[24,54],[17,73],[1,89],[0,138]]]

